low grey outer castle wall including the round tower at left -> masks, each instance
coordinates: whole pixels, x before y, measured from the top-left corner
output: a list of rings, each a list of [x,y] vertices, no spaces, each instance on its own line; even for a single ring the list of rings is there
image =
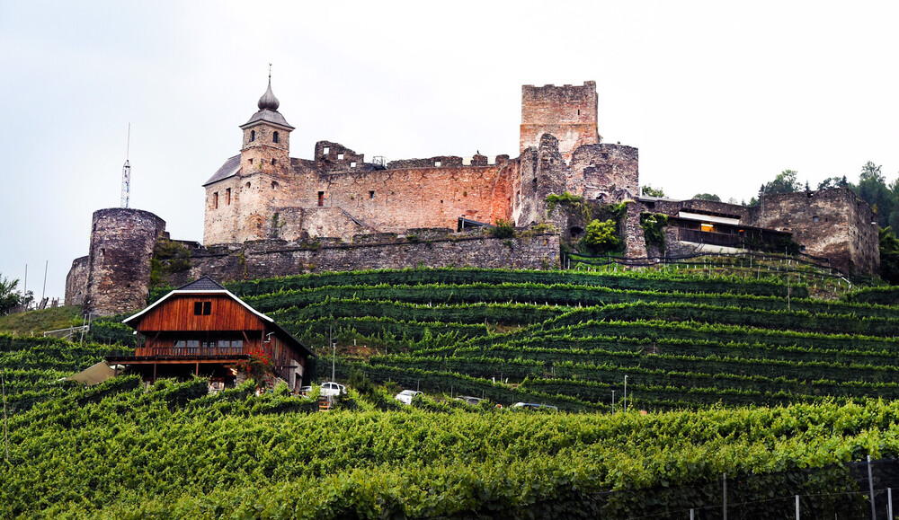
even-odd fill
[[[271,278],[310,272],[414,267],[557,269],[555,234],[501,239],[482,230],[454,233],[448,228],[405,230],[397,234],[361,234],[353,242],[337,238],[314,242],[279,239],[211,247],[183,242],[191,268],[166,280],[182,286],[203,275],[219,281]],[[84,304],[94,315],[129,313],[147,304],[150,266],[165,221],[146,211],[102,209],[94,213],[91,252],[69,271],[66,300]],[[80,301],[79,301],[80,298]]]

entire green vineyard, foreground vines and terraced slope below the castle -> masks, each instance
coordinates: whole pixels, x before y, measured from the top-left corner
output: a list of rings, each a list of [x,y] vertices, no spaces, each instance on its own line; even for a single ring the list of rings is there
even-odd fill
[[[872,463],[872,501],[861,461],[899,456],[899,306],[751,274],[226,284],[315,349],[314,380],[347,384],[329,413],[286,386],[62,381],[133,348],[121,317],[83,343],[0,335],[0,516],[719,518],[722,489],[738,518],[886,511],[899,478]]]

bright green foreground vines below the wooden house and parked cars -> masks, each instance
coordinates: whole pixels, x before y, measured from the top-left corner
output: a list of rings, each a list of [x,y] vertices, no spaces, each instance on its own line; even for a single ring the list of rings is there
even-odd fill
[[[424,399],[312,414],[311,401],[248,385],[202,396],[199,381],[138,383],[13,417],[0,516],[628,518],[720,507],[727,473],[747,517],[831,494],[804,515],[862,517],[867,487],[848,463],[899,453],[889,401],[600,418]]]

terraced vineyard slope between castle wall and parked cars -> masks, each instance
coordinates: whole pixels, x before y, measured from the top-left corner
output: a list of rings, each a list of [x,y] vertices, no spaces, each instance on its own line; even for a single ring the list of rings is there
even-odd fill
[[[503,404],[610,410],[626,376],[643,410],[899,397],[899,308],[778,278],[414,269],[228,287],[313,346],[333,334],[340,375]]]

